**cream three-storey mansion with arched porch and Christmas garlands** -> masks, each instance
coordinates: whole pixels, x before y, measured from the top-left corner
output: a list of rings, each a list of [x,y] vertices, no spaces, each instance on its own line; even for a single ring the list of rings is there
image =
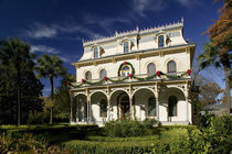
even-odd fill
[[[182,34],[183,20],[165,26],[117,33],[83,42],[72,65],[71,123],[157,119],[162,124],[192,123],[189,100],[196,44]]]

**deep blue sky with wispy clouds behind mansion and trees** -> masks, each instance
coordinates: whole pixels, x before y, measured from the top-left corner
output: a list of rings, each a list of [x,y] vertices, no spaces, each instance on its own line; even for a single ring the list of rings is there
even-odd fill
[[[164,25],[184,19],[183,34],[197,43],[196,57],[208,41],[202,33],[217,20],[221,2],[213,0],[0,0],[0,40],[19,37],[31,44],[38,57],[57,54],[67,73],[82,53],[82,40]],[[201,73],[224,88],[223,72],[210,67]],[[49,80],[43,94],[50,94]],[[55,87],[59,81],[55,81]]]

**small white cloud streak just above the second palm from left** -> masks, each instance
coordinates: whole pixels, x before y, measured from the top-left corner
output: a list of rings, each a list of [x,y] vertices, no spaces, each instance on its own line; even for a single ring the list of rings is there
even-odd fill
[[[31,53],[59,54],[60,51],[46,45],[31,45]]]

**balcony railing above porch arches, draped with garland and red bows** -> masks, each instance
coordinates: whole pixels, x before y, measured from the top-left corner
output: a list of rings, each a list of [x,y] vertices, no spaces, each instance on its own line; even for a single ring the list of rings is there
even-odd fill
[[[71,87],[78,88],[83,86],[93,86],[93,85],[108,85],[108,84],[122,84],[122,82],[135,82],[135,81],[149,81],[149,80],[173,80],[173,79],[181,79],[181,78],[191,78],[190,74],[187,72],[178,72],[172,74],[155,74],[152,76],[148,76],[147,74],[140,75],[129,75],[129,76],[119,76],[119,77],[104,77],[104,79],[92,79],[85,80],[82,79],[81,82],[72,82]]]

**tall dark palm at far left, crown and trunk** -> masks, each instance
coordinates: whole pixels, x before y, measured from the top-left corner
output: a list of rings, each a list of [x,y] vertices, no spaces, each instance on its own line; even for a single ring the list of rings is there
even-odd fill
[[[19,38],[9,38],[0,42],[1,65],[17,74],[17,124],[20,125],[20,100],[21,100],[21,73],[32,70],[34,63],[30,54],[30,45]]]

